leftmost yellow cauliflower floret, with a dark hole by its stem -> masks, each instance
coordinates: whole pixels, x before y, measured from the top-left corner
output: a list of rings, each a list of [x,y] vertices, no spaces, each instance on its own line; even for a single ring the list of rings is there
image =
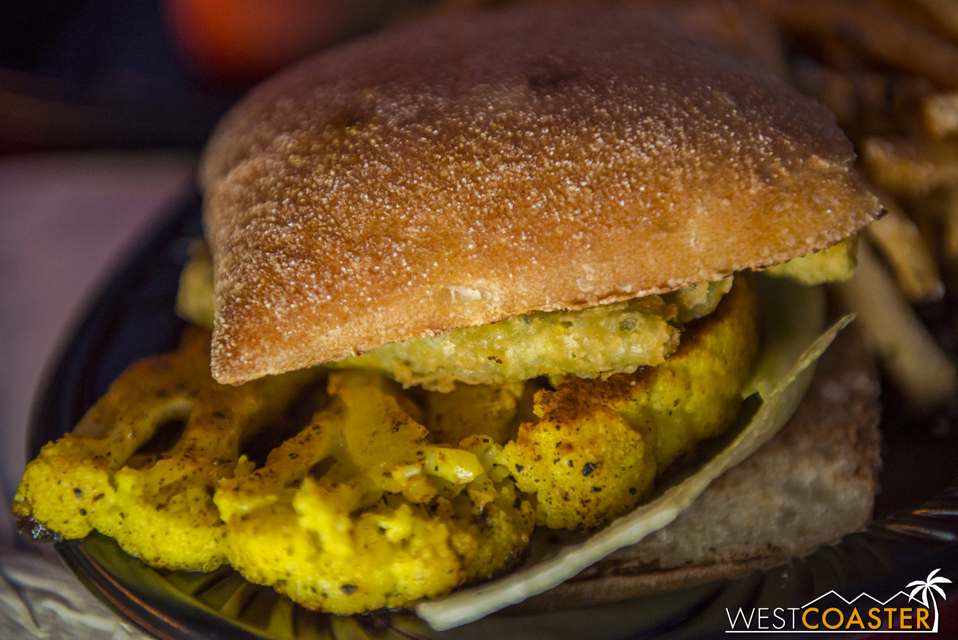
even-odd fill
[[[217,480],[233,473],[242,439],[315,374],[221,386],[210,376],[209,344],[208,332],[192,331],[178,351],[130,366],[73,433],[27,466],[13,513],[61,537],[96,529],[153,566],[216,568],[224,558]],[[178,442],[134,455],[170,421],[185,423]]]

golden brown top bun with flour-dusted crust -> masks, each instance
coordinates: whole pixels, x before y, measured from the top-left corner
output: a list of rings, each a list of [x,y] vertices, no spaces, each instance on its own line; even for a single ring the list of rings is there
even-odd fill
[[[256,88],[200,180],[221,382],[782,263],[878,213],[821,104],[666,18],[453,14]]]

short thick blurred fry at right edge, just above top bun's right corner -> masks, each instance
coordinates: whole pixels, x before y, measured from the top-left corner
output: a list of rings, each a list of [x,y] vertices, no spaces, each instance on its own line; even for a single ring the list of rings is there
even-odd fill
[[[872,182],[896,194],[927,194],[958,183],[958,142],[868,138],[861,159]]]

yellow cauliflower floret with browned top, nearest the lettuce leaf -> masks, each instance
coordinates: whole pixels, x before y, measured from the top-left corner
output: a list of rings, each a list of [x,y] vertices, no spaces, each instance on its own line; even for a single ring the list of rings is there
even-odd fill
[[[604,381],[567,376],[539,391],[539,421],[523,423],[494,456],[520,491],[536,493],[537,523],[604,525],[635,507],[676,457],[735,423],[759,318],[754,287],[738,277],[663,364]]]

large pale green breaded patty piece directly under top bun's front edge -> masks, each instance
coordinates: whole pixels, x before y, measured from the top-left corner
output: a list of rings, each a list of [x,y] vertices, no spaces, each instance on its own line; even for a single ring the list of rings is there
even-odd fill
[[[665,296],[576,311],[538,311],[394,342],[330,366],[372,369],[405,387],[444,392],[457,381],[503,384],[539,376],[632,373],[664,362],[678,347],[681,323],[710,313],[731,286],[728,278]]]

